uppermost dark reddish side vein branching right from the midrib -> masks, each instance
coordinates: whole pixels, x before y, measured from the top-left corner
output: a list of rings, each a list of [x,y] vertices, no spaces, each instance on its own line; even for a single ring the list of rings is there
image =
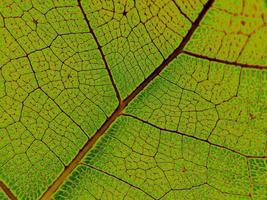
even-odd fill
[[[222,60],[222,59],[218,59],[218,58],[211,58],[211,57],[208,57],[205,55],[200,55],[200,54],[196,54],[196,53],[185,51],[185,50],[183,50],[182,53],[196,57],[196,58],[201,58],[201,59],[205,59],[208,61],[212,61],[212,62],[218,62],[218,63],[227,64],[227,65],[233,65],[235,67],[252,68],[252,69],[259,69],[259,70],[267,69],[267,66],[264,66],[264,65],[251,65],[251,64],[244,64],[244,63],[239,63],[239,62]]]

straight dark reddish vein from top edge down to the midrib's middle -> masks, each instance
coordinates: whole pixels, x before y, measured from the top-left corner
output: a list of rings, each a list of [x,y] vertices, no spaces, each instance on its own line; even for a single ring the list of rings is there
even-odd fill
[[[86,21],[86,24],[87,24],[87,26],[88,26],[88,29],[89,29],[90,33],[92,34],[92,36],[93,36],[93,38],[94,38],[94,40],[95,40],[95,42],[96,42],[97,48],[98,48],[98,50],[99,50],[99,52],[100,52],[100,54],[101,54],[102,60],[104,61],[105,68],[106,68],[106,70],[107,70],[107,72],[108,72],[110,81],[111,81],[112,86],[113,86],[113,88],[114,88],[114,90],[115,90],[117,99],[118,99],[118,101],[120,102],[120,101],[121,101],[121,97],[120,97],[119,90],[118,90],[117,85],[115,84],[115,81],[114,81],[114,79],[113,79],[112,73],[111,73],[110,68],[109,68],[109,66],[108,66],[108,62],[107,62],[107,60],[106,60],[105,54],[104,54],[104,52],[103,52],[103,50],[102,50],[102,47],[101,47],[101,45],[100,45],[100,43],[99,43],[99,41],[98,41],[98,39],[97,39],[97,37],[96,37],[96,35],[95,35],[95,33],[94,33],[94,30],[92,29],[92,27],[91,27],[91,25],[90,25],[90,23],[89,23],[89,20],[88,20],[88,18],[87,18],[87,16],[86,16],[86,13],[85,13],[84,9],[83,9],[83,7],[82,7],[81,0],[78,0],[78,6],[79,6],[79,8],[80,8],[80,10],[81,10],[81,12],[82,12],[82,14],[83,14],[83,18],[84,18],[84,20]]]

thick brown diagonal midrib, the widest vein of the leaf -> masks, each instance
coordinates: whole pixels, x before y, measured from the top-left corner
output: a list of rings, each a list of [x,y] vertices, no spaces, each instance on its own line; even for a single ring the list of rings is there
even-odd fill
[[[165,59],[159,67],[157,67],[130,95],[128,95],[124,100],[121,101],[117,109],[111,114],[111,116],[103,123],[103,125],[95,132],[95,134],[89,138],[82,149],[74,157],[68,166],[65,167],[63,172],[57,177],[57,179],[48,187],[46,192],[42,195],[41,199],[47,200],[51,199],[51,196],[58,189],[58,187],[66,180],[66,178],[71,174],[71,172],[79,165],[83,157],[88,153],[88,151],[94,146],[98,139],[105,133],[105,131],[110,127],[110,125],[122,114],[122,111],[127,107],[127,105],[154,79],[160,72],[173,60],[175,59],[183,50],[187,42],[190,40],[192,34],[198,27],[200,21],[203,19],[209,8],[211,7],[214,0],[209,0],[203,7],[202,11],[199,13],[197,19],[192,24],[188,33],[180,43],[180,45],[173,51],[172,54]],[[81,4],[79,3],[79,6]]]

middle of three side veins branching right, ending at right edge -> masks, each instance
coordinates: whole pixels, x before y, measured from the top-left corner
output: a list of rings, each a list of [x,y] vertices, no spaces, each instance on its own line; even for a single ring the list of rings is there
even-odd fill
[[[145,120],[143,120],[143,119],[141,119],[139,117],[136,117],[134,115],[131,115],[131,114],[123,114],[123,116],[131,117],[131,118],[133,118],[135,120],[138,120],[138,121],[140,121],[140,122],[142,122],[144,124],[152,126],[152,127],[156,128],[156,129],[159,129],[161,131],[166,131],[166,132],[169,132],[169,133],[175,133],[175,134],[179,134],[179,135],[182,135],[182,136],[185,136],[185,137],[188,137],[188,138],[192,138],[192,139],[195,139],[195,140],[198,140],[198,141],[201,141],[201,142],[205,142],[205,143],[208,143],[211,146],[215,146],[215,147],[218,147],[218,148],[221,148],[221,149],[225,149],[227,151],[231,151],[231,152],[233,152],[235,154],[239,154],[240,156],[243,156],[243,157],[246,157],[246,158],[267,158],[266,156],[254,156],[254,155],[243,154],[243,153],[241,153],[239,151],[236,151],[234,149],[231,149],[229,147],[210,142],[208,139],[199,138],[199,137],[196,137],[194,135],[189,135],[187,133],[182,133],[182,132],[179,132],[179,131],[176,131],[176,130],[170,130],[170,129],[162,128],[160,126],[157,126],[157,125],[155,125],[155,124],[153,124],[151,122],[145,121]]]

